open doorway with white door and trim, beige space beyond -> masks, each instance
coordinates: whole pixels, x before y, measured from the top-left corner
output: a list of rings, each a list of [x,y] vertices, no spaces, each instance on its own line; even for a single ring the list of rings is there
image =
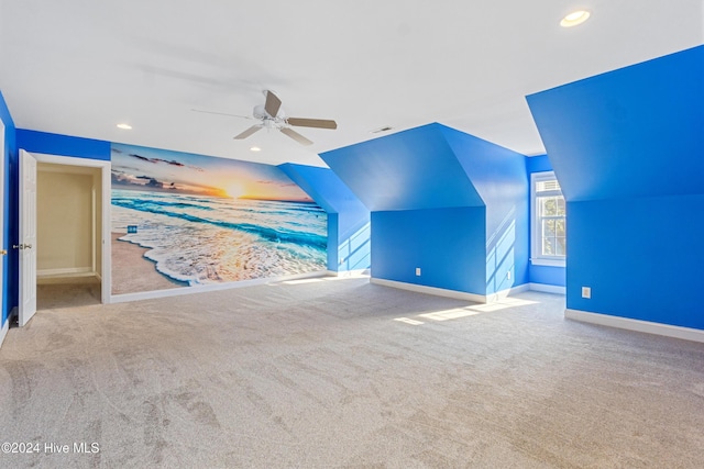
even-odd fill
[[[21,197],[26,203],[20,208],[20,225],[36,226],[34,241],[18,246],[24,247],[20,253],[25,254],[24,261],[20,256],[21,303],[22,293],[34,299],[28,300],[26,311],[20,308],[20,319],[24,319],[20,325],[37,306],[46,310],[108,303],[110,161],[20,153],[23,161],[34,160],[34,168],[28,164],[24,172],[33,172],[33,178],[25,179],[35,181],[21,185],[21,196],[28,193]],[[30,186],[34,187],[31,191]],[[28,236],[20,232],[21,238]],[[34,260],[26,256],[30,252]]]

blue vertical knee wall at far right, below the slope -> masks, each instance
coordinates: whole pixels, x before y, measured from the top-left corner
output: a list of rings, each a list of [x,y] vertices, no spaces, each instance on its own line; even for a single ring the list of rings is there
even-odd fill
[[[571,202],[569,210],[569,309],[704,330],[704,196]]]

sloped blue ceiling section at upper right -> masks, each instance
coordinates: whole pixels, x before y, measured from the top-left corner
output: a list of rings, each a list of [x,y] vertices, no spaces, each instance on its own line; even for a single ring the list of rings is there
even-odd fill
[[[704,46],[527,99],[568,200],[704,193]]]

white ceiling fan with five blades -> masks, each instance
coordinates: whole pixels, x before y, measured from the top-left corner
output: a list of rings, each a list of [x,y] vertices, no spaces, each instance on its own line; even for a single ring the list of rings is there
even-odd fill
[[[200,111],[193,109],[195,112],[205,112],[207,114],[220,114],[230,115],[233,118],[243,118],[251,120],[262,121],[258,124],[252,125],[246,131],[234,136],[234,139],[244,139],[261,129],[276,129],[283,134],[292,137],[301,145],[312,145],[312,142],[300,135],[298,132],[290,129],[290,125],[296,127],[315,127],[315,129],[338,129],[338,123],[327,119],[304,119],[304,118],[287,118],[282,108],[282,100],[278,99],[271,90],[264,90],[266,101],[264,105],[257,104],[252,111],[252,118],[246,115],[227,114],[224,112]]]

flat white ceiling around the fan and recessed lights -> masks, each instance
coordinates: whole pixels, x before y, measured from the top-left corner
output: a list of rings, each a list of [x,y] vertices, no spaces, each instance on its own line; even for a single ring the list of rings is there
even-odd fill
[[[703,43],[703,0],[0,0],[0,90],[19,129],[268,164],[431,122],[532,155],[526,94]],[[252,121],[191,111],[263,89],[338,130],[234,141]]]

